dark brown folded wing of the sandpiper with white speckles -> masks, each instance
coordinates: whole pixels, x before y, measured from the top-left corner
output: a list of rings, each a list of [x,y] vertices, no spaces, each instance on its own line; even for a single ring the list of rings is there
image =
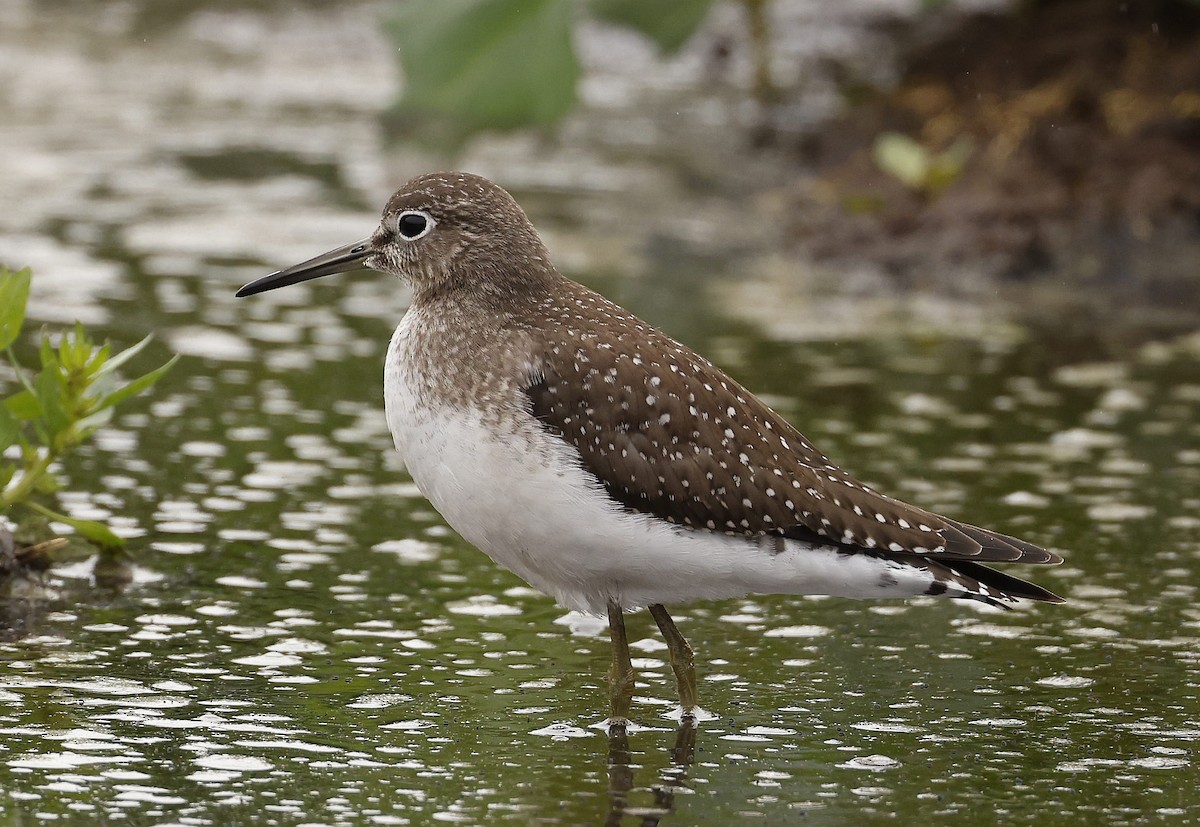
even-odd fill
[[[557,317],[524,394],[530,413],[628,508],[698,529],[816,535],[881,553],[1060,562],[874,491],[707,359],[601,296],[588,301],[607,305],[607,323]],[[564,336],[574,349],[548,344]]]

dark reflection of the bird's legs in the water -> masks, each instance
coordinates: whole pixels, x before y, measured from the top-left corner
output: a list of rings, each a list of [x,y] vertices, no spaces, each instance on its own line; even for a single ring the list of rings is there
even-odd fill
[[[619,827],[625,817],[636,819],[630,823],[654,827],[661,819],[674,811],[678,790],[688,787],[688,771],[696,760],[696,724],[684,720],[676,731],[671,763],[659,772],[659,781],[650,787],[653,803],[638,805],[630,801],[634,791],[634,761],[629,749],[629,735],[624,725],[608,729],[608,817],[607,827]]]

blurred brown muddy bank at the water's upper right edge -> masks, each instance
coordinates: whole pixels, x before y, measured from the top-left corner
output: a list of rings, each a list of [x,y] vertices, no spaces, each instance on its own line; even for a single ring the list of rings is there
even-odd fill
[[[792,199],[803,254],[905,287],[1039,282],[1033,295],[1200,310],[1200,5],[1057,0],[902,25],[900,83],[799,142],[815,170]],[[906,186],[872,157],[889,131],[970,155],[940,192]]]

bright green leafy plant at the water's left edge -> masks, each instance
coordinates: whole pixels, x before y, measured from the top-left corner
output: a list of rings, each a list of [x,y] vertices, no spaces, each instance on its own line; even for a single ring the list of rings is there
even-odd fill
[[[150,337],[114,354],[112,346],[97,346],[76,323],[58,344],[42,334],[41,370],[31,373],[12,348],[25,320],[30,280],[29,269],[12,271],[0,265],[0,350],[19,385],[0,403],[0,516],[28,509],[71,526],[102,550],[122,549],[124,540],[103,523],[68,517],[40,501],[61,485],[54,463],[106,425],[118,404],[162,378],[178,356],[122,382],[116,370],[140,353]]]

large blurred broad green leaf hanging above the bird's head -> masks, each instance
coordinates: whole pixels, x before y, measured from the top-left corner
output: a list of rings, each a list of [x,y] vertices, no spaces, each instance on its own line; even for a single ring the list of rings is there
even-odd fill
[[[461,132],[545,125],[575,104],[571,0],[406,0],[389,30],[404,70],[400,115]]]

